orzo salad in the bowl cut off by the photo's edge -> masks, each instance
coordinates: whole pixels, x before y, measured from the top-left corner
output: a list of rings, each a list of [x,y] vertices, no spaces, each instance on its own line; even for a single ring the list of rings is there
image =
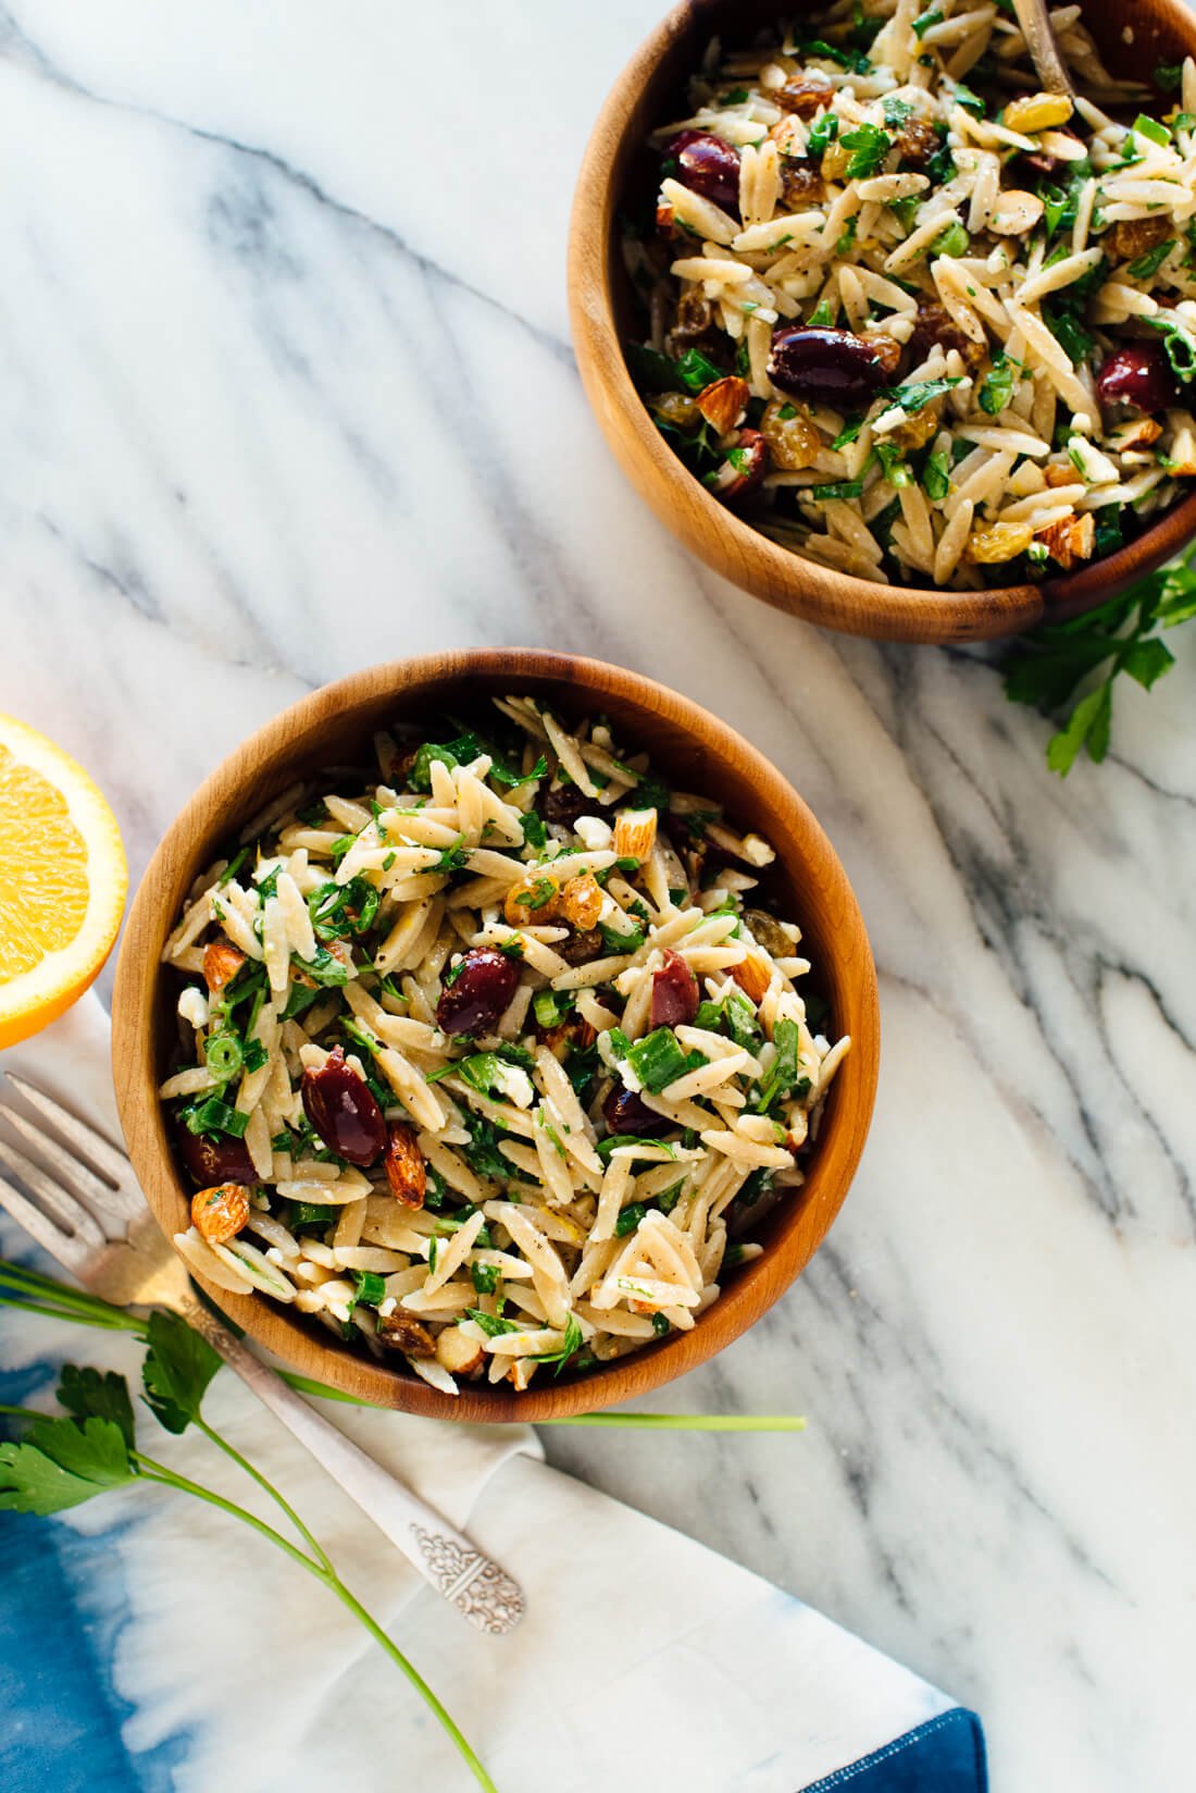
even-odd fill
[[[1196,66],[1114,79],[1053,13],[839,0],[710,52],[626,233],[660,430],[766,534],[975,588],[1119,547],[1196,475]]]

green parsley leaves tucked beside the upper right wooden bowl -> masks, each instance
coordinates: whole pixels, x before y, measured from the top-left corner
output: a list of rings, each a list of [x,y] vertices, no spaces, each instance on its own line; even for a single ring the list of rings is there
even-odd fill
[[[1062,719],[1047,742],[1051,771],[1067,776],[1081,751],[1097,762],[1105,758],[1117,678],[1128,674],[1149,690],[1174,665],[1162,631],[1191,617],[1196,617],[1196,543],[1121,597],[1022,637],[1004,660],[1004,690],[1013,703],[1031,703]]]

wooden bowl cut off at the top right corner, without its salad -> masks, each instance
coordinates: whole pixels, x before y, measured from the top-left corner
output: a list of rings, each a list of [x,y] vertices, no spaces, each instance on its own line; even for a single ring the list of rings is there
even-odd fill
[[[635,52],[599,113],[577,176],[568,237],[574,348],[599,425],[631,484],[699,559],[807,622],[880,640],[965,642],[1092,610],[1183,547],[1196,533],[1196,495],[1128,547],[1042,585],[990,592],[873,585],[802,559],[719,504],[669,448],[637,393],[622,342],[642,337],[642,323],[622,267],[619,221],[656,188],[647,136],[667,118],[685,115],[685,81],[712,36],[750,43],[764,25],[793,11],[810,11],[809,0],[796,9],[776,0],[683,0]],[[1128,23],[1131,43],[1121,36]],[[1090,0],[1085,25],[1106,66],[1124,77],[1148,81],[1155,63],[1196,54],[1196,14],[1180,0]]]

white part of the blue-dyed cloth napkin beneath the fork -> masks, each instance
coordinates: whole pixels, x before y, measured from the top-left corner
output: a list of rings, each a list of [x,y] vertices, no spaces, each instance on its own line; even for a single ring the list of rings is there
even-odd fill
[[[9,1067],[120,1137],[93,997],[0,1054]],[[18,1244],[11,1228],[4,1239]],[[20,1327],[29,1356],[136,1366],[106,1334]],[[515,1633],[482,1637],[427,1590],[231,1375],[210,1393],[213,1424],[285,1488],[504,1793],[798,1793],[954,1705],[758,1576],[549,1468],[527,1427],[321,1409],[518,1576],[527,1615]],[[143,1449],[246,1497],[206,1440],[138,1424]],[[91,1617],[118,1619],[126,1745],[169,1750],[170,1786],[472,1786],[394,1667],[246,1528],[145,1490],[81,1508],[72,1524],[104,1546],[81,1562]]]

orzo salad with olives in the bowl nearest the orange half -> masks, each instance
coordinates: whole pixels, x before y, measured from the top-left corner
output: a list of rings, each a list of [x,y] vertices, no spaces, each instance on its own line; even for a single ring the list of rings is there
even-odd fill
[[[687,1330],[794,1200],[832,1044],[773,848],[529,697],[378,735],[204,873],[176,1244],[434,1388]]]

